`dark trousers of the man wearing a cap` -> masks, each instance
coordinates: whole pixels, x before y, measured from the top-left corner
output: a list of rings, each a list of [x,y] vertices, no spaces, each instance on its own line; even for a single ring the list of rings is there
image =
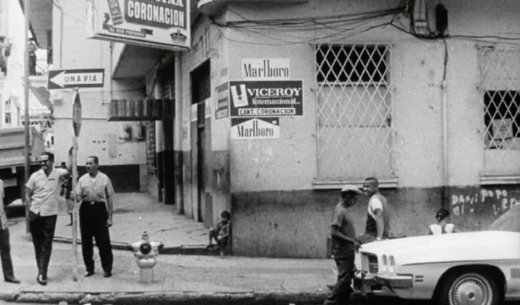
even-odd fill
[[[342,259],[334,259],[338,266],[338,281],[325,299],[324,305],[349,304],[349,297],[352,293],[352,278],[354,277],[354,253]]]

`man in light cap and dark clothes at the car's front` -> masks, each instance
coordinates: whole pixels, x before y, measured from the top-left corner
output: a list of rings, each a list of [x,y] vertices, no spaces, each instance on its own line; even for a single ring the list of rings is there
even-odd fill
[[[356,241],[356,227],[350,207],[362,192],[353,185],[341,189],[340,202],[334,208],[331,222],[332,255],[338,267],[338,281],[332,288],[324,305],[349,304],[354,277],[354,256],[360,244]]]

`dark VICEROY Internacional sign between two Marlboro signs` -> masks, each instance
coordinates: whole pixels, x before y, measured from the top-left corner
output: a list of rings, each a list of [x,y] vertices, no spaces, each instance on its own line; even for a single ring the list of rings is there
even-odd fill
[[[230,110],[236,116],[302,116],[302,80],[229,82]]]

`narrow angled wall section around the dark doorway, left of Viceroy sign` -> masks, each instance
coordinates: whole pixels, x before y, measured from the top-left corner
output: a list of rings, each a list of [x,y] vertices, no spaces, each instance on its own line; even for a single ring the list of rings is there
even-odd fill
[[[203,221],[207,227],[220,220],[220,211],[231,209],[229,193],[229,119],[216,119],[215,87],[227,82],[227,45],[220,30],[200,17],[192,28],[192,47],[182,54],[182,211],[190,218]],[[198,108],[192,105],[191,71],[210,60],[211,97]],[[198,109],[205,126],[205,162],[203,173],[197,173]],[[177,149],[177,148],[175,148]],[[198,186],[198,175],[204,186]],[[200,197],[198,193],[201,193]],[[200,202],[199,202],[200,200]],[[200,207],[200,211],[198,211]],[[201,219],[198,219],[200,214]]]

